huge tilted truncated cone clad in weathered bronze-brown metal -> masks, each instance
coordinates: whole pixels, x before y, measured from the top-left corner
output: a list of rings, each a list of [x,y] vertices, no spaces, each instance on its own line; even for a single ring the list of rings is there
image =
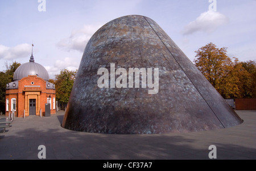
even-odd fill
[[[97,72],[111,72],[111,63],[114,71],[159,69],[158,93],[148,93],[152,88],[142,88],[142,81],[139,88],[99,88],[102,75]],[[242,119],[158,24],[129,15],[105,24],[89,40],[61,126],[106,134],[160,134],[240,123]]]

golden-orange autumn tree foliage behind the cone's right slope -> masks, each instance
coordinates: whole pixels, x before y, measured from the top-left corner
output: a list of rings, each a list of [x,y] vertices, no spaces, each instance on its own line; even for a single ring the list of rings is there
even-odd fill
[[[226,49],[210,42],[196,51],[195,65],[224,99],[250,97],[250,74]]]

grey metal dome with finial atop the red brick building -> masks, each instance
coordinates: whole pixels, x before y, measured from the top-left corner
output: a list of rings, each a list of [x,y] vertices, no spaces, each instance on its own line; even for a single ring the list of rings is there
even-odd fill
[[[33,55],[30,57],[30,62],[23,63],[14,72],[14,81],[18,81],[28,75],[37,75],[44,80],[49,80],[49,74],[47,70],[34,61]]]

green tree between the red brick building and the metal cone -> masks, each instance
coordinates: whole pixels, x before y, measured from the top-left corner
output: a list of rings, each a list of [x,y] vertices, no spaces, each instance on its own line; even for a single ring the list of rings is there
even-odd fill
[[[67,104],[76,78],[76,71],[63,69],[55,75],[56,100]]]

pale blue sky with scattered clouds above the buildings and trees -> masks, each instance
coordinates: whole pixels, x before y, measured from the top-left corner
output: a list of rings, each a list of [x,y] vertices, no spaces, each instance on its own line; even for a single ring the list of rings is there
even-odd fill
[[[228,56],[256,61],[254,0],[0,0],[0,71],[33,55],[51,79],[79,68],[86,43],[125,15],[154,20],[193,62],[212,42]]]

